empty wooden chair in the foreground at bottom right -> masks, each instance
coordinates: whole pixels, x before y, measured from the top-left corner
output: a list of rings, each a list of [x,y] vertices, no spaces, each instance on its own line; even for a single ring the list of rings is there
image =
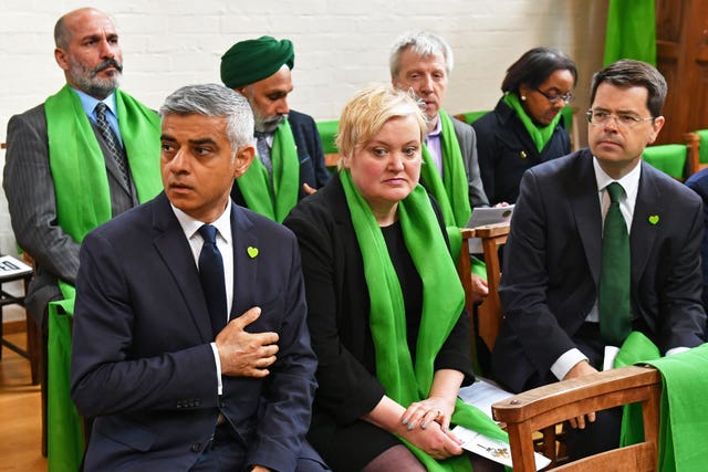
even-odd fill
[[[492,406],[506,424],[514,472],[535,471],[533,434],[583,413],[642,403],[644,441],[563,464],[558,471],[656,471],[662,378],[627,366],[524,391]],[[545,451],[544,455],[553,451]],[[549,455],[550,457],[550,455]]]

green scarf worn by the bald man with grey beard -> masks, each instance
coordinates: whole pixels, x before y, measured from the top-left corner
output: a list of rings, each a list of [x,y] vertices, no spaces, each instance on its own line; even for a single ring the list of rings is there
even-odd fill
[[[132,96],[116,91],[118,126],[138,200],[147,201],[160,189],[159,117]],[[56,218],[76,242],[112,218],[106,164],[101,145],[79,95],[65,85],[44,103],[50,168],[54,180]],[[69,392],[71,328],[75,290],[59,281],[64,300],[49,306],[48,448],[50,470],[76,470],[83,454],[83,436]],[[67,316],[65,316],[67,315]]]

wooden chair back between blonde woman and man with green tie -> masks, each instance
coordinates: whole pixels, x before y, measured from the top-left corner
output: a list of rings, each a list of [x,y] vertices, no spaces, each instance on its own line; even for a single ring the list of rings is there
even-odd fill
[[[462,228],[462,248],[460,250],[460,259],[458,262],[458,273],[465,289],[465,307],[467,313],[472,314],[472,279],[470,274],[470,239],[480,238],[482,241],[482,251],[485,254],[485,264],[487,265],[487,283],[489,285],[489,294],[487,298],[479,305],[477,311],[478,333],[489,350],[494,347],[497,335],[499,334],[499,325],[501,324],[501,301],[499,300],[499,281],[501,279],[501,266],[499,262],[499,247],[507,242],[509,235],[509,223],[490,224],[487,227],[478,227],[473,229]],[[475,329],[472,323],[472,329]],[[473,335],[473,332],[472,332]]]

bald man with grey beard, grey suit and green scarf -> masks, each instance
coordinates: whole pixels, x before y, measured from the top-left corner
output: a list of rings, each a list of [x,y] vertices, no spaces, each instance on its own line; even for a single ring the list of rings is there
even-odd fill
[[[92,8],[72,11],[56,22],[54,41],[66,85],[10,119],[3,175],[12,229],[35,263],[27,306],[38,323],[50,301],[66,296],[59,281],[75,283],[84,234],[160,189],[159,118],[118,90],[113,21]]]

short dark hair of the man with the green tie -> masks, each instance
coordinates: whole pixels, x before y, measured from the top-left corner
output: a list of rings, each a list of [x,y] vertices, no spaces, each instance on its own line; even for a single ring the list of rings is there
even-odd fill
[[[662,107],[666,99],[668,90],[664,75],[650,64],[632,59],[621,59],[613,62],[605,69],[595,72],[590,88],[590,103],[595,101],[597,87],[603,82],[607,82],[620,88],[644,87],[648,95],[646,98],[646,107],[652,116],[662,115]]]

